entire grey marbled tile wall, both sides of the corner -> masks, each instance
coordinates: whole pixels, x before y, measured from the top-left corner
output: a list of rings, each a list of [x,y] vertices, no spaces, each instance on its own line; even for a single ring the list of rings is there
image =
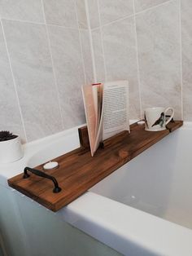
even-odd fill
[[[129,80],[131,118],[161,105],[192,121],[191,0],[0,7],[0,130],[31,141],[80,125],[81,84],[117,79]]]

